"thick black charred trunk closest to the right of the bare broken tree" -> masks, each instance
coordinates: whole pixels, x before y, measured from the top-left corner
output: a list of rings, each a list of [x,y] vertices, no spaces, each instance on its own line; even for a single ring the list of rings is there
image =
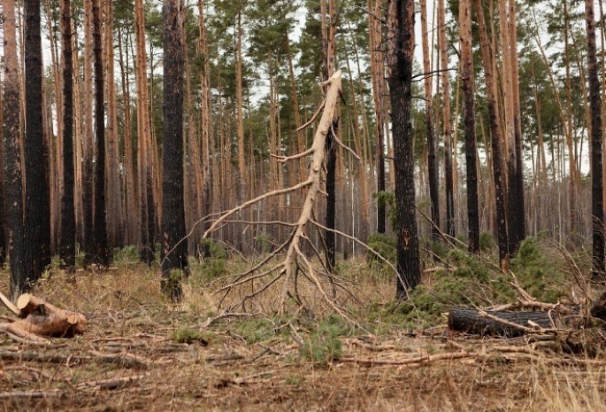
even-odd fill
[[[387,62],[396,165],[396,216],[398,217],[396,297],[398,299],[404,299],[407,296],[407,289],[414,288],[421,282],[415,208],[415,158],[410,119],[415,50],[414,4],[413,0],[390,0],[388,3]]]

